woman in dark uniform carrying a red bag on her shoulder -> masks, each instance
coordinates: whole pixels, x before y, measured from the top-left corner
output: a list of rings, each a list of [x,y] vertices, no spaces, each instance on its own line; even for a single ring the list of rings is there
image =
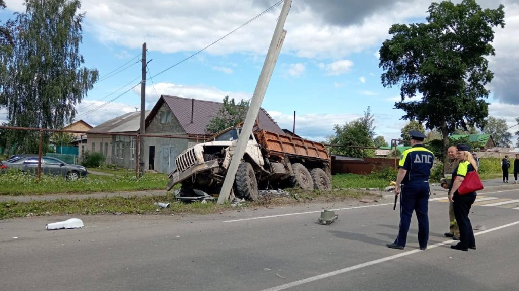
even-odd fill
[[[472,223],[469,219],[470,208],[472,203],[476,200],[476,192],[459,195],[458,188],[461,182],[465,180],[468,172],[476,171],[476,161],[470,154],[470,147],[466,144],[458,144],[458,166],[453,172],[453,183],[450,186],[449,201],[453,202],[454,215],[459,227],[459,242],[451,245],[451,249],[468,251],[469,248],[476,249],[476,240],[474,238],[474,231],[472,230]]]

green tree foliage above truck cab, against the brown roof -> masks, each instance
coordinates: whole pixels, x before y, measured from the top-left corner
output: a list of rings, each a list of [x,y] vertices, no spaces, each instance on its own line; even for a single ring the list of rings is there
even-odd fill
[[[211,118],[207,125],[207,131],[214,134],[244,121],[247,110],[249,110],[249,104],[249,100],[243,99],[236,104],[234,98],[229,99],[229,96],[225,96],[224,104],[218,109],[216,116]]]

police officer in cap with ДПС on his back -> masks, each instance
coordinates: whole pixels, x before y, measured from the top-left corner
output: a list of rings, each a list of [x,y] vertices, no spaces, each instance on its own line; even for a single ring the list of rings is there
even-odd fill
[[[418,243],[420,250],[427,249],[429,241],[429,177],[431,176],[434,154],[422,144],[426,136],[416,130],[409,131],[411,149],[400,157],[397,184],[394,194],[400,194],[400,226],[398,237],[386,246],[403,250],[407,241],[407,231],[413,210],[418,219]]]

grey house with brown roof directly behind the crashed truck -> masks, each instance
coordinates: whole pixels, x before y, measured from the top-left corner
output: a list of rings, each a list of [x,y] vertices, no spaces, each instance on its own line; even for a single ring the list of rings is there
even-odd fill
[[[161,95],[146,118],[146,134],[183,138],[146,137],[145,167],[162,173],[171,172],[177,155],[213,135],[206,128],[222,105],[215,101]],[[263,108],[258,112],[258,123],[262,129],[284,135]]]

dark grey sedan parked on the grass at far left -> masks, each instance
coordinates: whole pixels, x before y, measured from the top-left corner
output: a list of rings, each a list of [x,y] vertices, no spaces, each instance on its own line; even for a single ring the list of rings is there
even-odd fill
[[[38,169],[38,156],[30,155],[19,157],[14,160],[10,159],[1,163],[0,172],[4,172],[9,169],[36,173]],[[53,176],[61,176],[69,180],[77,180],[79,178],[87,177],[88,171],[83,166],[67,164],[55,157],[42,156],[41,173]]]

